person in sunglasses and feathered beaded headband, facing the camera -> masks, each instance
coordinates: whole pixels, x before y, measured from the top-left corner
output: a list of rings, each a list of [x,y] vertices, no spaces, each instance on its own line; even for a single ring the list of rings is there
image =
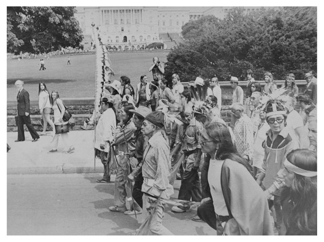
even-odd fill
[[[268,101],[265,111],[266,121],[270,126],[270,130],[267,132],[266,140],[263,142],[265,154],[260,173],[257,174],[257,183],[268,189],[276,182],[279,171],[284,168],[287,154],[299,146],[297,140],[292,139],[289,129],[286,127],[287,113],[283,102],[274,103],[273,101]],[[273,200],[271,199],[269,204],[271,207],[272,204],[274,205],[277,217],[275,227],[280,230],[283,222],[280,203],[282,189],[279,185],[277,188],[279,190],[272,193]]]

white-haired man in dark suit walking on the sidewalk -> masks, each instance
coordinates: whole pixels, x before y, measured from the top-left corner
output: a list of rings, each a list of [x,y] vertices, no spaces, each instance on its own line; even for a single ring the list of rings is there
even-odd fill
[[[18,126],[18,139],[15,140],[15,142],[18,141],[24,141],[25,140],[25,134],[23,131],[23,124],[26,124],[31,137],[32,137],[32,142],[35,142],[39,139],[39,135],[37,134],[36,130],[31,124],[30,121],[30,103],[29,103],[29,93],[23,89],[23,81],[17,80],[14,85],[16,86],[18,90],[18,95],[17,95],[17,114],[18,114],[18,119],[17,119],[17,126]]]

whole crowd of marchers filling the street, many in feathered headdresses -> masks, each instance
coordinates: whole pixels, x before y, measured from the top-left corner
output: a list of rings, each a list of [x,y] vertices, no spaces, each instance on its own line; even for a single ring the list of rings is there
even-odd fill
[[[106,71],[95,135],[105,172],[97,182],[108,183],[116,173],[109,210],[144,213],[137,235],[169,233],[162,225],[165,204],[175,213],[197,206],[192,220],[218,235],[317,235],[314,72],[305,74],[307,87],[299,93],[292,73],[277,87],[267,72],[261,88],[248,70],[245,101],[238,78],[231,77],[227,125],[216,77],[197,77],[184,88],[173,74],[171,84],[155,57],[153,81],[143,75],[135,90],[128,77],[111,81],[114,72]],[[170,200],[176,178],[178,200]]]

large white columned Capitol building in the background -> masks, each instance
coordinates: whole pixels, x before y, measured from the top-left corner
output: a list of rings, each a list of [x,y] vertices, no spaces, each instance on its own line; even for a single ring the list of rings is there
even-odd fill
[[[181,27],[203,15],[224,18],[232,7],[155,7],[155,6],[98,6],[76,7],[84,49],[93,45],[93,25],[99,28],[102,42],[116,50],[140,49],[148,44],[162,42],[171,48],[182,41]],[[262,7],[244,7],[253,12]]]

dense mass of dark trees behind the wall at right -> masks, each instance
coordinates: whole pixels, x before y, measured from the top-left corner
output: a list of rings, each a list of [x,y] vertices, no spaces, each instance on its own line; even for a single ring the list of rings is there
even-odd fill
[[[182,81],[195,77],[220,81],[246,78],[252,69],[256,80],[270,71],[285,79],[294,73],[317,71],[317,8],[281,7],[246,14],[231,9],[224,19],[207,15],[182,26],[184,43],[171,50],[165,63],[169,80],[177,73]]]

